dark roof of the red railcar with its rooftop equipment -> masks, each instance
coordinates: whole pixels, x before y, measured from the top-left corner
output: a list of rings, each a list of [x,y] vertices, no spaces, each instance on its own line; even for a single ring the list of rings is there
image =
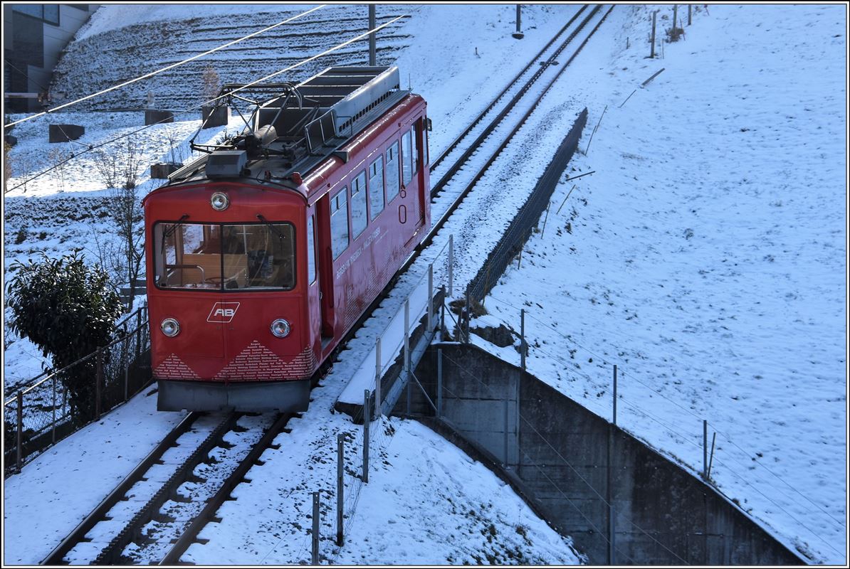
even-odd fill
[[[240,87],[228,84],[222,93]],[[208,154],[173,172],[166,187],[248,179],[301,190],[306,198],[293,174],[306,177],[334,155],[347,162],[343,147],[411,94],[399,88],[395,66],[328,67],[297,85],[261,87],[275,97],[257,105],[245,130],[225,144],[193,145]]]

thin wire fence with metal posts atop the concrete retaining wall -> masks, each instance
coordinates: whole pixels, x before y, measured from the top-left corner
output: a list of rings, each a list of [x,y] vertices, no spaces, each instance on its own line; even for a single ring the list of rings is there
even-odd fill
[[[488,297],[488,301],[513,308],[518,317],[523,310],[492,297]],[[536,343],[525,343],[528,346],[527,358],[545,360],[556,369],[566,370],[570,380],[578,380],[581,387],[575,388],[575,391],[584,390],[592,396],[581,401],[585,408],[690,470],[718,493],[738,504],[742,510],[751,515],[756,513],[751,507],[741,504],[740,500],[729,497],[730,491],[748,494],[750,503],[757,501],[765,511],[772,511],[774,517],[781,515],[793,521],[799,527],[800,536],[808,542],[819,544],[824,550],[837,552],[828,536],[830,533],[836,536],[845,533],[845,525],[841,521],[843,512],[830,513],[824,504],[819,504],[807,495],[806,488],[799,487],[795,481],[785,480],[771,470],[759,459],[759,453],[734,441],[734,437],[729,434],[730,425],[717,425],[706,420],[691,408],[693,402],[677,401],[675,395],[666,394],[649,385],[651,382],[639,375],[640,370],[624,372],[620,369],[619,374],[599,375],[600,367],[608,369],[610,373],[615,363],[581,346],[570,335],[564,335],[544,323],[541,315],[530,313],[528,308],[524,308],[524,313],[526,318],[536,321],[547,333],[557,335],[568,348],[558,349],[551,342],[545,348]],[[503,322],[493,314],[488,314],[485,319],[488,325],[506,324],[512,330],[519,330],[519,326],[511,326],[512,323]],[[582,352],[584,358],[581,358]],[[572,358],[573,355],[576,357]],[[596,367],[582,368],[577,365],[579,361],[587,363],[588,360],[595,361]],[[478,378],[470,377],[470,380]],[[613,389],[615,382],[616,391]],[[569,396],[569,392],[565,394]]]

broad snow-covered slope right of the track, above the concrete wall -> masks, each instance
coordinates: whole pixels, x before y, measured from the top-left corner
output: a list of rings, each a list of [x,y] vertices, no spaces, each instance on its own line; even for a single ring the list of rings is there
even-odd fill
[[[837,564],[845,8],[711,6],[657,61],[642,41],[649,8],[617,14],[614,53],[584,59],[565,91],[590,110],[581,149],[607,105],[568,172],[596,173],[556,189],[545,232],[483,318],[519,330],[525,308],[531,370],[606,419],[617,363],[618,421],[694,470],[708,420],[723,492],[813,561]]]

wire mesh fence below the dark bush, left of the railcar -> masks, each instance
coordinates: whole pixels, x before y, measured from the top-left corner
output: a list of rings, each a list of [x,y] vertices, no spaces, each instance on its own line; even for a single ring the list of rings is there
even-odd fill
[[[46,370],[3,402],[8,476],[55,442],[127,401],[150,379],[147,307],[119,324],[114,339],[65,368]]]

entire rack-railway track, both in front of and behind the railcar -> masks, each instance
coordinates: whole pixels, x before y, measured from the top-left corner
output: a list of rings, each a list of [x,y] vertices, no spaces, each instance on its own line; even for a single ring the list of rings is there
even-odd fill
[[[439,182],[431,199],[439,206],[439,219],[398,275],[430,245],[612,9],[580,8],[433,162],[431,174],[439,176]],[[575,49],[564,54],[570,46]],[[397,279],[365,311],[341,346],[360,332]],[[327,372],[320,370],[313,384]],[[250,482],[248,470],[262,464],[260,455],[286,431],[291,416],[187,415],[42,564],[177,563],[233,488]]]

